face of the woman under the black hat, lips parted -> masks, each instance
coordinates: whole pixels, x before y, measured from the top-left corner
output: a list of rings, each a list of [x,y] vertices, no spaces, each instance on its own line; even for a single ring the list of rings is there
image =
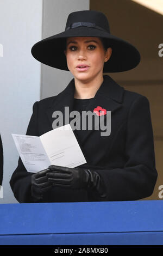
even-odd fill
[[[66,39],[67,66],[73,76],[80,81],[90,82],[103,76],[104,62],[111,56],[111,48],[104,50],[97,37],[70,37]],[[79,68],[86,66],[86,68]]]

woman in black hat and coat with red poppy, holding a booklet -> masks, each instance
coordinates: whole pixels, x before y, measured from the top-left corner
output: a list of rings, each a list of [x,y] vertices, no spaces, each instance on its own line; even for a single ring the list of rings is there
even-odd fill
[[[103,72],[135,68],[140,62],[137,49],[110,34],[103,13],[85,10],[71,13],[65,31],[37,42],[32,54],[41,63],[70,70],[74,78],[57,96],[34,103],[27,135],[41,136],[54,129],[53,113],[65,115],[65,106],[70,113],[91,111],[95,117],[103,116],[101,124],[106,123],[106,128],[111,111],[111,133],[102,136],[100,129],[88,129],[88,125],[86,130],[74,129],[86,159],[76,168],[53,165],[33,174],[19,159],[10,180],[16,199],[21,203],[91,202],[151,196],[157,172],[149,102],[103,76]]]

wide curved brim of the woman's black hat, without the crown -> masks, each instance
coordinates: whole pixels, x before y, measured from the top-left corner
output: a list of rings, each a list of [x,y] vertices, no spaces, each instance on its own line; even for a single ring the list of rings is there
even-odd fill
[[[69,71],[64,53],[65,43],[67,37],[76,36],[95,36],[108,40],[108,47],[112,48],[112,54],[108,62],[104,63],[103,72],[127,71],[135,68],[140,62],[139,51],[129,42],[96,28],[82,26],[68,29],[37,42],[32,47],[32,55],[43,64]]]

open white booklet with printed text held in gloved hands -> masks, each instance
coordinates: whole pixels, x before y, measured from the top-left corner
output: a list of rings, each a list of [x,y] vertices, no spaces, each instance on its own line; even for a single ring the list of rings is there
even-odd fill
[[[40,137],[17,134],[12,137],[28,172],[39,172],[51,164],[73,168],[86,163],[70,124]]]

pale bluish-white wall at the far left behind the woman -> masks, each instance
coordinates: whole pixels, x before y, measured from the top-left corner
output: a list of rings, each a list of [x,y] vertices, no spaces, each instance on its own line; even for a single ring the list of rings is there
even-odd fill
[[[17,202],[9,185],[18,160],[11,133],[26,133],[33,103],[40,99],[41,64],[30,50],[41,36],[42,0],[0,0],[0,132],[4,150],[0,203]]]

